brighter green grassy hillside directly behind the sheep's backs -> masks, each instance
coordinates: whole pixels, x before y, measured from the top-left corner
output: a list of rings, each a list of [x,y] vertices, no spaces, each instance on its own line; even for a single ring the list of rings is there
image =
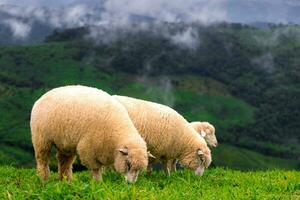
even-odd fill
[[[84,84],[112,94],[161,102],[175,107],[188,120],[208,120],[217,130],[252,120],[254,108],[231,96],[217,81],[193,75],[141,79],[108,73],[74,60],[77,51],[68,43],[0,48],[0,112],[5,116],[0,119],[0,163],[33,165],[31,107],[49,89],[66,84]],[[168,83],[176,85],[169,87]],[[226,135],[222,131],[217,134]]]

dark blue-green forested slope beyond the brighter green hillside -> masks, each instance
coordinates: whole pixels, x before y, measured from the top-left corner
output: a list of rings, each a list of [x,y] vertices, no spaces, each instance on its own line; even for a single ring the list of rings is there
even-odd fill
[[[194,49],[176,45],[170,38],[157,34],[161,31],[159,25],[153,25],[153,31],[113,32],[120,37],[110,43],[101,43],[101,38],[96,44],[94,40],[87,41],[83,39],[86,37],[82,29],[58,31],[48,41],[72,42],[80,49],[77,60],[88,60],[107,72],[124,72],[141,79],[192,74],[222,83],[226,91],[255,110],[252,122],[219,128],[225,134],[220,139],[264,154],[297,159],[300,153],[300,26],[274,25],[257,29],[227,23],[208,27],[164,24],[164,29],[179,35],[190,27],[198,35],[194,39],[199,45]],[[88,32],[88,27],[85,30]],[[112,34],[111,30],[102,31]],[[193,82],[188,78],[185,82],[190,81]],[[180,84],[175,81],[171,85]],[[194,84],[196,87],[201,88]],[[188,97],[189,94],[184,100]],[[186,112],[180,104],[175,104],[175,108]],[[221,110],[217,119],[227,119],[222,113]]]

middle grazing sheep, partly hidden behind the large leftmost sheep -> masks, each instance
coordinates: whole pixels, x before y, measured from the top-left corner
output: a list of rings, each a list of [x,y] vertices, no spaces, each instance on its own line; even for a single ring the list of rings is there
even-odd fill
[[[150,101],[117,95],[113,97],[125,106],[148,150],[162,162],[166,175],[170,175],[167,167],[169,160],[178,159],[200,176],[210,165],[211,153],[205,140],[175,110]],[[149,173],[151,169],[148,165]]]

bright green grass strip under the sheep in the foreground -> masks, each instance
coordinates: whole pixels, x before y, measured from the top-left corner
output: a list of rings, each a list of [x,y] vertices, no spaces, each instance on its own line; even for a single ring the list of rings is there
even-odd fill
[[[214,168],[203,177],[181,170],[165,177],[142,173],[135,184],[126,184],[115,172],[95,182],[87,171],[74,180],[41,182],[35,169],[0,167],[0,199],[299,199],[299,171],[240,172]]]

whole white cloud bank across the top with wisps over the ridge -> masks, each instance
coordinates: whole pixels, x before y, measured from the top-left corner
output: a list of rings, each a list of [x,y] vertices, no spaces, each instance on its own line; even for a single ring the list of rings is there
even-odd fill
[[[298,5],[294,0],[238,2],[236,0],[29,0],[26,2],[25,5],[25,1],[21,0],[1,1],[1,3],[23,5],[0,6],[0,14],[6,13],[12,16],[13,20],[21,23],[19,26],[11,25],[11,27],[23,26],[26,32],[31,29],[28,26],[35,24],[35,21],[53,29],[92,26],[90,37],[102,38],[102,42],[113,41],[124,31],[147,31],[162,34],[173,43],[188,48],[196,48],[199,45],[197,31],[190,26],[173,33],[164,27],[165,22],[202,25],[230,20],[249,22],[265,19],[287,22],[291,18],[287,17],[289,13],[287,8]],[[21,21],[20,18],[26,20]],[[150,26],[149,22],[154,26]],[[110,34],[107,34],[108,29]],[[16,35],[20,37],[21,34]]]

